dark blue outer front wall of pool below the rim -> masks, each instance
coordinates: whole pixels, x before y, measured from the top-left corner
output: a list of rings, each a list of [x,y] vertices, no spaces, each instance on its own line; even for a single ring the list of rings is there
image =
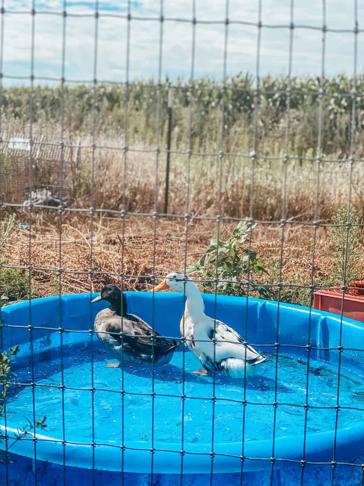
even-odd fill
[[[6,467],[0,465],[0,484],[8,486],[91,486],[93,474],[91,469],[70,467],[47,461],[36,462],[28,457],[10,453],[13,463],[8,466],[8,484],[6,483]],[[330,464],[306,464],[303,471],[302,486],[331,486],[332,466]],[[36,471],[36,485],[34,482]],[[149,469],[150,471],[150,469]],[[363,471],[361,467],[337,465],[334,470],[332,486],[361,486]],[[271,483],[271,469],[247,472],[216,473],[213,470],[212,486],[299,486],[301,485],[302,466],[297,463],[285,462],[278,468],[273,467],[273,481]],[[182,474],[183,486],[210,485],[211,473]],[[132,486],[181,486],[181,474],[131,473],[107,470],[94,470],[94,484],[99,485],[132,485]]]

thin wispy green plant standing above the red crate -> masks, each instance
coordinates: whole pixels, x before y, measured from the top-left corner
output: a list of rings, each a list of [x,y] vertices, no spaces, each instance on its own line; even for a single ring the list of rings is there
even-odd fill
[[[347,208],[336,211],[333,220],[334,225],[329,230],[330,241],[334,249],[336,260],[336,272],[334,280],[336,285],[344,281],[345,257],[346,257],[346,283],[352,284],[357,278],[359,226],[351,226],[359,223],[359,217],[355,208],[350,209],[349,218]],[[350,226],[348,226],[348,223]]]

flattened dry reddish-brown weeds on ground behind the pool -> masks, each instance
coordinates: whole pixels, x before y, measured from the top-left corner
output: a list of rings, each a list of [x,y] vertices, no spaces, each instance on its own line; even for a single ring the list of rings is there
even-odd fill
[[[21,216],[17,221],[20,219]],[[228,238],[235,225],[224,221],[220,226],[220,239]],[[62,269],[62,293],[89,292],[90,289],[96,292],[105,283],[120,284],[120,272],[125,275],[124,290],[150,290],[150,275],[154,272],[163,276],[181,271],[185,255],[187,264],[203,255],[210,239],[216,235],[216,222],[192,220],[186,235],[183,218],[154,220],[150,216],[127,216],[123,224],[121,217],[98,214],[91,224],[89,215],[68,212],[62,220],[61,239],[59,234],[59,216],[52,212],[33,216],[32,231],[29,224],[26,228],[17,227],[9,241],[9,263],[31,264],[35,268],[32,270],[33,286],[38,296],[59,293],[59,268]],[[279,225],[256,226],[252,233],[252,249],[269,268],[271,262],[280,261],[282,235],[282,281],[292,283],[298,274],[309,280],[314,249],[312,226],[292,223],[283,231]],[[362,246],[361,254],[363,251]],[[364,279],[364,259],[359,259],[358,265],[360,278]],[[319,227],[314,277],[329,277],[334,266],[327,229]]]

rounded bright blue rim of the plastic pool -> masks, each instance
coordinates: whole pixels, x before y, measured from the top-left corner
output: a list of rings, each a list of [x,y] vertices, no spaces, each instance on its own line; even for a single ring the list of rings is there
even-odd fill
[[[153,293],[138,293],[138,292],[126,292],[127,300],[128,298],[135,297],[140,294],[149,294],[149,298],[153,298]],[[154,294],[154,299],[168,299],[174,294],[164,293],[164,294]],[[33,306],[41,306],[45,303],[51,301],[61,301],[68,305],[68,303],[76,304],[76,301],[84,299],[91,301],[98,293],[93,294],[70,294],[55,297],[43,297],[40,299],[33,299],[32,301],[24,301],[16,304],[11,304],[1,309],[1,316],[6,324],[6,316],[10,316],[12,312],[24,311],[26,309],[31,309]],[[183,296],[180,294],[180,296]],[[215,300],[215,295],[204,294],[203,298],[205,301],[209,299]],[[332,322],[341,322],[340,316],[336,314],[330,314],[328,312],[317,311],[315,309],[305,308],[301,306],[296,306],[293,304],[279,303],[275,301],[266,301],[264,299],[252,299],[247,297],[227,297],[224,295],[217,295],[216,299],[218,301],[225,301],[227,304],[233,302],[231,299],[243,299],[248,303],[248,306],[254,303],[260,305],[269,303],[271,309],[275,308],[281,311],[298,311],[304,313],[311,313],[311,315],[318,315],[326,317]],[[5,319],[4,319],[5,316]],[[342,318],[342,325],[349,326],[353,332],[363,332],[364,325],[353,319],[346,317]],[[5,432],[3,425],[0,425],[0,429]],[[14,432],[16,429],[11,427],[11,423],[7,423],[7,433],[10,431]],[[302,440],[303,434],[295,436],[283,436],[275,439],[275,458],[274,462],[278,467],[285,461],[294,461],[301,463],[302,452],[298,451],[297,444]],[[335,436],[335,430],[306,434],[306,453],[305,460],[307,462],[324,462],[331,463],[332,452],[333,452],[333,440]],[[54,462],[56,464],[63,464],[63,447],[66,449],[71,449],[72,453],[69,455],[67,453],[66,464],[69,466],[77,466],[83,468],[92,467],[92,458],[90,457],[90,445],[87,446],[73,446],[66,441],[63,446],[62,440],[55,439],[50,436],[45,436],[44,434],[35,434],[36,438],[36,456],[39,460],[46,460]],[[7,439],[9,440],[9,439]],[[55,442],[57,440],[57,442]],[[180,454],[183,455],[183,472],[185,473],[196,473],[196,472],[210,472],[211,470],[211,447],[206,444],[189,443],[188,447],[185,447],[184,451],[179,451],[172,449],[170,444],[158,442],[158,451],[151,451],[147,448],[145,451],[140,452],[137,449],[141,447],[139,442],[128,442],[128,444],[112,444],[113,441],[103,441],[103,444],[108,445],[96,445],[93,448],[95,456],[98,459],[95,463],[95,469],[107,469],[107,470],[117,470],[121,471],[121,454],[124,455],[124,471],[128,472],[150,472],[150,460],[141,461],[140,456],[145,455],[146,459],[150,455],[153,456],[154,471],[155,472],[165,472],[165,473],[179,473],[181,472],[181,460],[178,460],[178,467],[174,463],[176,461],[168,461],[167,458],[162,457],[168,454]],[[49,447],[52,443],[55,447]],[[342,429],[337,429],[336,432],[336,456],[345,457],[346,459],[351,457],[359,457],[364,454],[363,450],[364,443],[364,422],[356,424],[352,427],[346,427]],[[59,447],[56,447],[56,445]],[[114,447],[110,447],[113,445]],[[120,448],[121,446],[121,448]],[[122,446],[127,447],[123,452]],[[272,451],[272,440],[264,439],[257,441],[245,441],[244,442],[244,457],[241,456],[242,443],[219,443],[219,446],[225,448],[224,453],[216,453],[214,451],[214,472],[240,472],[242,460],[244,461],[245,470],[259,470],[266,469],[266,467],[271,467],[271,451]],[[134,449],[129,449],[134,448]],[[5,450],[5,442],[0,443],[0,449]],[[86,451],[87,449],[87,451]],[[361,449],[361,451],[360,451]],[[160,451],[162,450],[162,451]],[[173,452],[166,452],[171,451]],[[270,452],[269,452],[270,450]],[[14,447],[11,449],[12,452],[25,455],[27,457],[34,457],[34,443],[33,438],[27,438],[19,440],[16,442]],[[360,451],[360,452],[359,452]],[[120,453],[121,452],[121,453]],[[69,457],[68,457],[69,456]],[[233,457],[232,457],[233,456]],[[249,459],[251,458],[251,459]],[[263,458],[265,460],[263,460]]]

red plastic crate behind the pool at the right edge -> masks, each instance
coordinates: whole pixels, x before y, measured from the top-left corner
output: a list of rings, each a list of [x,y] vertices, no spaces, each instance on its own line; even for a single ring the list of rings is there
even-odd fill
[[[355,282],[357,287],[344,294],[343,315],[364,322],[364,282]],[[343,291],[340,287],[314,292],[314,309],[341,315]]]

